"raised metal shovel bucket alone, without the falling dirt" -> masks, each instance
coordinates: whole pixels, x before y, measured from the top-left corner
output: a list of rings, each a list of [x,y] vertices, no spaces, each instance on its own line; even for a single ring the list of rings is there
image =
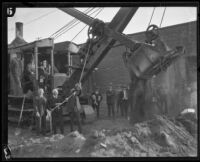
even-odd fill
[[[166,69],[183,52],[183,47],[167,51],[141,43],[134,52],[125,53],[125,64],[137,78],[148,79]]]

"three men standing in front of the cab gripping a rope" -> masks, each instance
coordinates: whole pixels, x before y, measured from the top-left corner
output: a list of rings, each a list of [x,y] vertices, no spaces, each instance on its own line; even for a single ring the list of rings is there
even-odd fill
[[[34,99],[37,135],[40,133],[43,135],[46,134],[47,121],[50,123],[50,130],[53,134],[57,134],[58,128],[60,129],[60,133],[64,134],[63,107],[66,106],[64,105],[66,102],[69,103],[67,104],[67,109],[70,114],[71,131],[73,131],[74,119],[77,119],[78,131],[81,133],[80,108],[78,106],[80,94],[80,85],[76,85],[76,87],[71,90],[71,97],[68,98],[59,96],[58,89],[53,89],[52,94],[47,97],[44,95],[44,90],[39,88],[38,94]]]

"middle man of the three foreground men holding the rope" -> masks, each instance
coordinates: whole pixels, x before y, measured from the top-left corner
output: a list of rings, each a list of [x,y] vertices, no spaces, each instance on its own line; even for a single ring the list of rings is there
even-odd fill
[[[61,134],[64,134],[64,121],[63,121],[63,112],[62,112],[62,107],[59,106],[61,103],[61,98],[58,96],[58,90],[53,89],[52,91],[52,96],[49,99],[49,104],[48,104],[48,110],[52,111],[56,106],[58,106],[56,109],[54,109],[51,112],[51,117],[52,117],[52,128],[53,128],[53,133],[57,133],[57,127],[60,128]]]

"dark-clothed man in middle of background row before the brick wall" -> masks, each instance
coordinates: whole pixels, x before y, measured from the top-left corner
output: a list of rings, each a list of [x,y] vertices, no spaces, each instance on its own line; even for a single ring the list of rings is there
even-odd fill
[[[106,91],[106,101],[108,105],[108,117],[115,118],[115,92],[110,83],[109,89]]]

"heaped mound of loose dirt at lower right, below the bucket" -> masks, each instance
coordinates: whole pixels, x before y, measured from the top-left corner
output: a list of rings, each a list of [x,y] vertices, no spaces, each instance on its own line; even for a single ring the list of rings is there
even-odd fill
[[[92,157],[196,156],[197,141],[175,123],[157,116],[131,129],[99,131],[86,140],[81,153]]]

